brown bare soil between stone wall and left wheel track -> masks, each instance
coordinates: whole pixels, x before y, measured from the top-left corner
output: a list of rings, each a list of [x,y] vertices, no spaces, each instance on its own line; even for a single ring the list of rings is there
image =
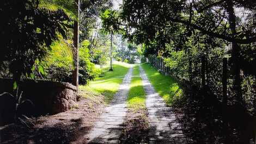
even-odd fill
[[[18,122],[0,131],[0,143],[87,143],[86,134],[103,112],[103,97],[99,101],[82,98],[77,107],[56,115],[41,116]],[[32,124],[33,123],[33,124]]]

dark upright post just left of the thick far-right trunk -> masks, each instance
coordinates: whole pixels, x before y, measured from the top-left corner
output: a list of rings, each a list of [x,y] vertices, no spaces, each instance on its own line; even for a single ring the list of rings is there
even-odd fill
[[[222,104],[223,105],[227,105],[228,102],[228,98],[227,98],[227,72],[228,72],[228,59],[227,58],[223,58],[223,64],[222,64],[222,93],[223,93],[223,97],[222,97]]]

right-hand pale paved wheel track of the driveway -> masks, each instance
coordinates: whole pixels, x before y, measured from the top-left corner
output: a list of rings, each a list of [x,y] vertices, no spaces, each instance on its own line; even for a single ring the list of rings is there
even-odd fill
[[[150,125],[149,143],[186,143],[174,112],[165,105],[162,97],[154,90],[143,68],[139,66],[139,69],[147,95],[146,107]]]

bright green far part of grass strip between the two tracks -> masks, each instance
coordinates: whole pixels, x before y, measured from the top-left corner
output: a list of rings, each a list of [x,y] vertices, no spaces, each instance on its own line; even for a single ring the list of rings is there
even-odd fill
[[[127,107],[136,112],[145,109],[145,92],[142,85],[142,78],[139,76],[139,66],[133,67],[131,88],[127,98]]]

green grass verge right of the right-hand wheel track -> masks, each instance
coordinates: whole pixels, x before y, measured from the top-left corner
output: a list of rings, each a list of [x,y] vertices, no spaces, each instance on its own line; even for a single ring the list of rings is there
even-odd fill
[[[167,105],[172,105],[173,102],[182,96],[182,89],[179,84],[170,76],[164,76],[163,74],[157,72],[157,70],[150,66],[149,64],[142,64],[142,67],[147,74],[149,81],[163,97]]]

